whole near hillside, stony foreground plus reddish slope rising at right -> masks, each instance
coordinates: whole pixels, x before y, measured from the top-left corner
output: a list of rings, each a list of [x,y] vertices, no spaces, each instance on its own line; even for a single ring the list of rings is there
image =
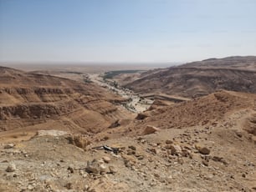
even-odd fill
[[[92,144],[56,130],[8,139],[0,144],[0,190],[253,192],[255,102],[255,94],[222,91],[155,106]],[[145,133],[152,125],[156,132]]]

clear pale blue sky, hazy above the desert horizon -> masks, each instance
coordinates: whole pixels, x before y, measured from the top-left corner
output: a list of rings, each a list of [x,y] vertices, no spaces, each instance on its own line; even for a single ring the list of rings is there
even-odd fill
[[[255,0],[0,0],[0,62],[256,55]]]

